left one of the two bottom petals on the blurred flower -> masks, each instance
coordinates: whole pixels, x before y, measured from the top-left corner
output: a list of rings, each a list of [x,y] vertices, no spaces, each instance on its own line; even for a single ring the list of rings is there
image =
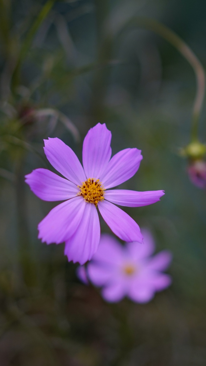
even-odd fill
[[[108,302],[118,302],[126,295],[124,284],[117,281],[102,289],[102,296]]]

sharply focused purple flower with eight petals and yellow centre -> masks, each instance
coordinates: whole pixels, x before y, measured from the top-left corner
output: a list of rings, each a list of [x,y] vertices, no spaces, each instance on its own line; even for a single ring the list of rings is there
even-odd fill
[[[125,149],[111,158],[111,132],[98,123],[83,143],[83,167],[76,154],[58,138],[44,140],[44,152],[62,178],[47,169],[26,175],[31,190],[45,201],[64,201],[38,224],[38,238],[47,244],[65,242],[69,261],[84,264],[96,252],[100,240],[97,207],[115,235],[127,242],[142,242],[137,223],[117,205],[137,207],[159,201],[163,191],[108,190],[137,171],[141,150]]]

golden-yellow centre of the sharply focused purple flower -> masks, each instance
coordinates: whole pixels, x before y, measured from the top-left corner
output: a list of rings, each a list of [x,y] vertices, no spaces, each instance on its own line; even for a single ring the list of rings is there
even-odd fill
[[[78,186],[80,191],[78,195],[82,196],[85,201],[94,203],[97,206],[99,201],[104,199],[104,187],[102,186],[102,182],[99,182],[99,179],[88,178],[85,182],[82,182],[81,186]]]

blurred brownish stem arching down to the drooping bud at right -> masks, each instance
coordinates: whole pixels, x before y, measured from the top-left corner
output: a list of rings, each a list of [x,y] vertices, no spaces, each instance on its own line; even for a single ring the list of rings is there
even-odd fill
[[[172,44],[192,66],[196,76],[196,96],[192,112],[191,140],[198,140],[198,122],[205,96],[205,71],[191,48],[176,33],[157,20],[135,17],[129,25],[138,25],[151,30]]]

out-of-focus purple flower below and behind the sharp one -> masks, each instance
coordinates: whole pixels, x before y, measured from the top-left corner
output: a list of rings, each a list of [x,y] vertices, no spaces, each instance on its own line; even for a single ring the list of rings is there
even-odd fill
[[[103,234],[97,252],[87,266],[77,268],[79,279],[96,286],[103,286],[102,296],[108,302],[120,301],[124,296],[139,303],[150,301],[156,291],[162,291],[171,283],[165,270],[172,255],[164,250],[151,257],[154,240],[149,231],[143,230],[144,243],[126,243],[122,246],[111,235]]]

